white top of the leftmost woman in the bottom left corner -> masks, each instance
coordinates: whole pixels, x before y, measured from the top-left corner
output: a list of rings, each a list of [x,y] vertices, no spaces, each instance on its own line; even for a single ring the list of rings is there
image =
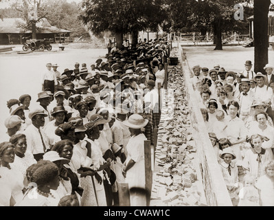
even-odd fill
[[[5,182],[12,188],[12,197],[17,203],[23,199],[23,175],[19,170],[14,168],[7,168],[0,166],[0,176],[3,177]],[[1,195],[0,195],[1,196]]]

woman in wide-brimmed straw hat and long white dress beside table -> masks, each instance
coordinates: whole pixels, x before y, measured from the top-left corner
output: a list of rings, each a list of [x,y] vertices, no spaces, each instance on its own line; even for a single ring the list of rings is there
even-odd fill
[[[123,122],[129,127],[131,137],[126,148],[128,156],[124,163],[123,175],[128,183],[128,188],[146,188],[144,141],[147,140],[141,128],[148,124],[148,120],[139,114],[130,115],[128,120]],[[130,192],[130,206],[146,206],[146,196],[137,196]]]

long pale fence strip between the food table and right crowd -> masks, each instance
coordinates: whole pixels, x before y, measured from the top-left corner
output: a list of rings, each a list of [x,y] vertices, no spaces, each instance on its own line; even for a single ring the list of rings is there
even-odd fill
[[[225,180],[222,177],[220,166],[212,147],[212,143],[209,140],[209,135],[201,114],[201,110],[198,107],[198,97],[194,93],[192,87],[191,76],[192,72],[185,58],[183,48],[179,45],[179,56],[182,63],[183,75],[185,77],[185,85],[187,91],[187,99],[189,101],[190,111],[192,112],[192,126],[194,128],[194,140],[197,147],[197,155],[199,160],[199,166],[203,178],[203,186],[205,190],[205,197],[207,199],[208,206],[232,206]]]

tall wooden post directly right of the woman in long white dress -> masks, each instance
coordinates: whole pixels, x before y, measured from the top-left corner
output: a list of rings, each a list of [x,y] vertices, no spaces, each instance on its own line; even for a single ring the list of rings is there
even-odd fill
[[[146,175],[146,206],[150,206],[150,195],[152,187],[152,170],[151,170],[151,148],[150,141],[144,141],[144,153],[145,153],[145,175]]]

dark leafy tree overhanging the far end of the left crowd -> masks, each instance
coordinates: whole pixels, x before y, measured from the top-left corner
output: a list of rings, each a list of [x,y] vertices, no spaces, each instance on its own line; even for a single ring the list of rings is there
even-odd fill
[[[84,0],[80,19],[94,34],[105,31],[115,34],[116,45],[122,48],[123,34],[131,32],[136,39],[138,31],[159,23],[161,3],[161,0]]]

